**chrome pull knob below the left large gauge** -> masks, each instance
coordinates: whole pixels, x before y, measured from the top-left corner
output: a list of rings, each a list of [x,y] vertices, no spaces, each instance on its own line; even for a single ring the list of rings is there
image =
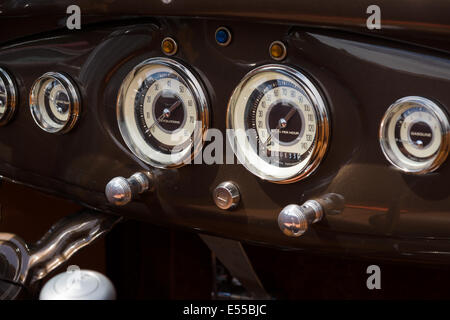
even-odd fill
[[[137,172],[128,179],[115,177],[106,185],[106,198],[111,204],[124,206],[138,194],[152,190],[153,184],[154,178],[150,172]]]

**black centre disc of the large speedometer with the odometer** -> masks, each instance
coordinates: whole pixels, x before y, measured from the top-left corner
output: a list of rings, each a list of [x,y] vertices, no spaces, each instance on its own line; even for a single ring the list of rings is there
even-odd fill
[[[290,143],[301,134],[303,122],[295,106],[278,102],[270,110],[268,125],[272,135],[280,142]]]

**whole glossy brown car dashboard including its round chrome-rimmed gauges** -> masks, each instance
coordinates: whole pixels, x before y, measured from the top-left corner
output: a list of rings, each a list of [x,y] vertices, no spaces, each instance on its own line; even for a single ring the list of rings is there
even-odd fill
[[[365,7],[356,19],[354,7],[342,18],[288,1],[128,2],[81,6],[79,30],[65,28],[64,1],[36,4],[38,15],[10,6],[3,23],[42,29],[24,23],[1,44],[3,104],[14,105],[0,122],[3,179],[286,250],[446,261],[450,48],[439,16],[408,24],[386,2],[396,19],[367,30]],[[256,142],[230,138],[236,129]],[[151,190],[108,201],[108,183],[135,173]],[[321,221],[292,230],[292,215],[327,199]]]

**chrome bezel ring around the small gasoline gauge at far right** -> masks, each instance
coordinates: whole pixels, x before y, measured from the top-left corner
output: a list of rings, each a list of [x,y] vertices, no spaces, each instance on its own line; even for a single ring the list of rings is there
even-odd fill
[[[425,108],[439,123],[441,134],[441,144],[436,155],[430,158],[429,161],[424,161],[423,163],[417,162],[415,165],[411,164],[413,163],[412,160],[406,161],[394,152],[391,145],[394,141],[391,141],[392,139],[389,139],[388,136],[390,126],[395,125],[395,123],[392,124],[392,121],[396,121],[394,117],[402,108],[408,105]],[[386,159],[395,168],[409,174],[421,175],[437,170],[447,159],[450,149],[450,124],[446,112],[437,103],[419,96],[404,97],[390,105],[383,116],[378,135],[381,150]]]

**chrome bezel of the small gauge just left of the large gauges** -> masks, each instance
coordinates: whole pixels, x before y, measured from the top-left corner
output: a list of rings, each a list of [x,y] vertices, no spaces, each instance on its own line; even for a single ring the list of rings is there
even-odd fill
[[[65,120],[64,125],[57,128],[52,126],[48,122],[43,119],[43,115],[41,112],[41,106],[39,104],[39,94],[42,88],[42,85],[47,81],[57,81],[66,91],[67,97],[69,99],[69,107],[68,107],[68,118]],[[75,124],[78,121],[81,111],[81,99],[77,86],[75,83],[69,78],[69,76],[59,73],[59,72],[47,72],[40,76],[31,87],[30,91],[30,111],[33,117],[34,122],[38,125],[39,128],[48,133],[54,134],[64,134],[73,129]]]

